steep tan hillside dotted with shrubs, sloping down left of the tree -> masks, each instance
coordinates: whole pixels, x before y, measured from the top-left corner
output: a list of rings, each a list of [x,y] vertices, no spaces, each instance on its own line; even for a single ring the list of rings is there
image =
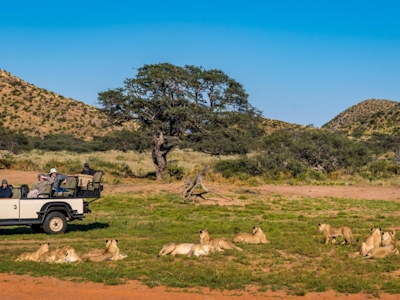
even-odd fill
[[[94,106],[38,88],[0,69],[0,120],[28,136],[65,133],[91,140],[114,130]]]

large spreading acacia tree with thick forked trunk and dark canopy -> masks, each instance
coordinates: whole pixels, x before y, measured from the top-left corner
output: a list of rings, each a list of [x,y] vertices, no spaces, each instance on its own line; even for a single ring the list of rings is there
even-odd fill
[[[98,100],[114,124],[135,121],[146,133],[157,179],[177,145],[213,155],[246,153],[262,133],[260,112],[243,86],[220,70],[144,65],[123,88],[100,92]]]

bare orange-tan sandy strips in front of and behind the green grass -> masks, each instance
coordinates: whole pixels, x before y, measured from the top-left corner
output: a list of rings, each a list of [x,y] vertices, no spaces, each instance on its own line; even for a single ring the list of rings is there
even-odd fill
[[[36,181],[36,172],[0,170],[0,179],[7,179],[10,184],[20,185]],[[367,200],[400,201],[400,188],[397,187],[373,187],[373,186],[290,186],[290,185],[265,185],[255,188],[229,187],[220,185],[206,185],[211,191],[211,200],[202,203],[215,203],[220,205],[242,204],[237,200],[238,191],[242,193],[259,193],[262,196],[282,195],[289,198],[307,197],[337,197]],[[106,186],[107,192],[172,192],[181,193],[182,184],[135,184]],[[215,198],[212,198],[215,195]],[[221,195],[223,195],[221,197]],[[209,198],[208,196],[207,198]],[[210,198],[209,198],[210,199]],[[75,283],[61,281],[48,277],[30,277],[28,275],[0,274],[0,299],[69,299],[77,297],[82,300],[102,299],[193,299],[193,300],[223,300],[223,299],[326,299],[326,300],[364,300],[371,299],[371,295],[365,294],[338,294],[334,291],[323,293],[308,293],[305,296],[290,296],[285,292],[227,292],[210,291],[202,289],[192,292],[183,292],[165,287],[149,288],[137,281],[129,281],[125,285],[105,286],[98,283]],[[381,294],[380,299],[399,299],[400,295]]]

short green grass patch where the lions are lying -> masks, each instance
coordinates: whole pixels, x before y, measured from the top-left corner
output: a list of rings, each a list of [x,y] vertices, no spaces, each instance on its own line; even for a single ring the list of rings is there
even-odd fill
[[[211,289],[284,290],[304,295],[333,289],[341,293],[399,293],[399,256],[380,260],[349,258],[371,227],[396,226],[399,203],[337,198],[286,199],[280,195],[238,194],[244,206],[184,203],[173,194],[105,194],[92,203],[92,214],[69,225],[63,235],[31,234],[28,227],[0,228],[0,272],[55,276],[75,281],[122,284],[136,279],[149,286]],[[354,245],[324,245],[318,223],[349,225],[359,239]],[[168,242],[198,243],[198,231],[231,238],[260,225],[270,244],[240,245],[210,257],[157,257]],[[49,265],[14,262],[38,243],[51,248],[71,245],[83,254],[117,238],[128,258],[118,262]],[[396,273],[397,272],[397,273]]]

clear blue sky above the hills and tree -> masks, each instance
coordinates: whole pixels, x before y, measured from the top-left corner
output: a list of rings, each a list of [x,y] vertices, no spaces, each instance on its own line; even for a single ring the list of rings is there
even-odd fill
[[[368,98],[400,101],[399,13],[397,1],[2,1],[0,68],[91,105],[143,64],[216,68],[264,117],[320,127]]]

